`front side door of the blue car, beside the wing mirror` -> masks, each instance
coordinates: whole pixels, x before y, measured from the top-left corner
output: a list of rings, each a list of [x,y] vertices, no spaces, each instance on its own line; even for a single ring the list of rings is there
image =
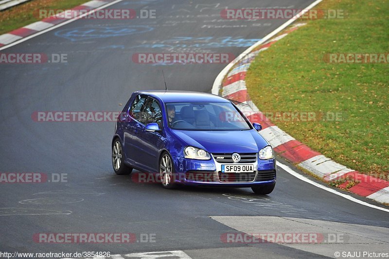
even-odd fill
[[[148,123],[155,122],[162,129],[162,113],[159,102],[151,97],[148,97],[147,103],[142,110],[142,122],[144,126],[139,131],[140,152],[138,159],[144,167],[150,171],[158,170],[159,150],[163,146],[163,136],[161,131],[150,132],[146,130]]]

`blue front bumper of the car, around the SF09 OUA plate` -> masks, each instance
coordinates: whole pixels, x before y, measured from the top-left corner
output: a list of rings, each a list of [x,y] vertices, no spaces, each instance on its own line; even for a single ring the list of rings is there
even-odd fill
[[[212,156],[212,155],[211,155]],[[221,173],[221,163],[210,160],[188,159],[173,156],[176,182],[193,186],[225,186],[225,187],[252,187],[269,185],[276,182],[276,159],[260,160],[254,164],[257,168],[253,173]]]

